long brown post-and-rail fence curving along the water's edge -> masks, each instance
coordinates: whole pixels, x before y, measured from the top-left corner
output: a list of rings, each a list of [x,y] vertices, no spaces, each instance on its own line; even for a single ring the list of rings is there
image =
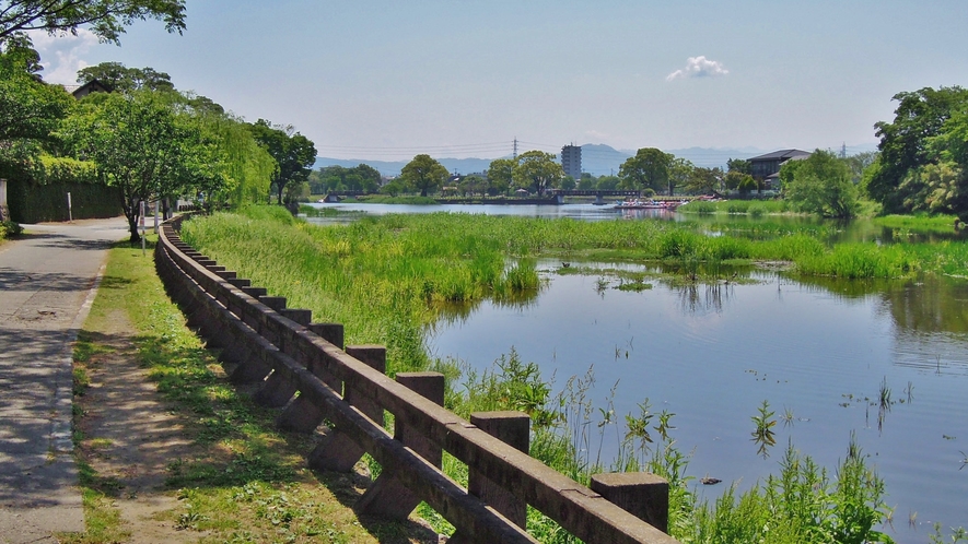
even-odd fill
[[[353,506],[359,515],[406,519],[425,501],[456,531],[451,542],[535,542],[527,506],[588,543],[672,544],[668,484],[648,473],[599,474],[585,487],[529,457],[530,421],[518,412],[445,410],[438,372],[385,374],[382,346],[343,347],[338,323],[236,277],[184,244],[180,218],[163,225],[155,262],[168,293],[200,329],[230,378],[258,383],[256,402],[280,409],[291,431],[327,429],[311,468],[350,471],[364,453],[382,472]],[[384,429],[385,412],[394,434]],[[468,466],[465,489],[441,471],[443,451]]]

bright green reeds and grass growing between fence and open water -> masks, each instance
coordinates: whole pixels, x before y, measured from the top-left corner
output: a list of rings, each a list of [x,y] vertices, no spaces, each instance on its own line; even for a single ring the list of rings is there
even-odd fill
[[[183,235],[221,264],[289,297],[291,307],[345,323],[349,342],[386,344],[392,371],[444,371],[447,406],[455,412],[529,413],[536,429],[532,453],[575,480],[586,482],[603,469],[643,466],[664,475],[673,484],[673,534],[683,542],[888,542],[872,530],[888,515],[883,485],[853,447],[831,472],[791,447],[778,476],[742,495],[731,489],[702,502],[685,476],[688,458],[668,436],[670,414],[652,413],[648,401],[625,419],[600,407],[610,415],[599,418],[599,406],[584,395],[591,376],[572,378],[552,394],[538,369],[513,353],[483,374],[425,353],[424,332],[454,311],[455,303],[466,311],[483,299],[517,304],[533,297],[541,286],[535,265],[541,257],[655,262],[686,282],[722,281],[726,270],[735,270],[730,264],[754,261],[788,261],[796,274],[863,279],[945,273],[968,262],[959,243],[831,248],[817,236],[825,227],[783,228],[788,232],[755,239],[708,236],[688,224],[448,214],[365,217],[320,228],[254,209],[186,223]],[[604,439],[595,429],[620,444],[616,459],[594,453]],[[445,466],[457,480],[466,471],[453,460]],[[423,513],[445,529],[431,512]],[[534,512],[529,529],[546,542],[568,540]]]

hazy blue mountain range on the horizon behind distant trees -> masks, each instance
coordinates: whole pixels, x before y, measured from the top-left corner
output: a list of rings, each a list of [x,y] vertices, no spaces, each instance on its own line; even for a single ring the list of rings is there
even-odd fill
[[[876,144],[862,144],[848,146],[847,152],[848,154],[855,154],[864,151],[874,151],[876,149]],[[730,158],[749,158],[777,150],[761,150],[757,147],[688,147],[685,150],[663,151],[672,153],[677,157],[685,158],[696,166],[703,166],[707,168],[719,166],[725,168],[726,161]],[[619,166],[634,154],[635,151],[631,150],[616,150],[615,147],[605,144],[586,143],[582,145],[582,172],[587,172],[593,176],[618,174]],[[510,156],[498,158],[510,158]],[[491,164],[492,158],[438,158],[438,161],[453,174],[474,174],[485,172],[488,168],[488,165]],[[316,157],[315,166],[316,168],[322,168],[324,166],[342,166],[346,168],[352,168],[359,164],[366,164],[376,168],[384,176],[394,177],[400,175],[400,170],[409,161]]]

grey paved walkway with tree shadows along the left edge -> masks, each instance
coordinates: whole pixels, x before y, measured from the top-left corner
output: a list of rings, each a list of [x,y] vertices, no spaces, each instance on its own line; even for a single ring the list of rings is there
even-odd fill
[[[0,543],[83,531],[71,451],[71,345],[124,217],[24,225],[0,246]]]

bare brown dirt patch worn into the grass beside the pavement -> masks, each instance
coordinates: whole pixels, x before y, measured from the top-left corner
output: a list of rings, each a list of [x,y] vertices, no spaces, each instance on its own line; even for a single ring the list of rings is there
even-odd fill
[[[163,489],[167,466],[190,458],[193,444],[139,366],[130,330],[116,310],[93,339],[103,348],[86,363],[90,386],[74,399],[83,413],[77,423],[83,433],[78,454],[102,487],[114,488],[129,542],[194,542],[200,533],[179,531],[171,516],[163,516],[178,507],[174,493]]]

